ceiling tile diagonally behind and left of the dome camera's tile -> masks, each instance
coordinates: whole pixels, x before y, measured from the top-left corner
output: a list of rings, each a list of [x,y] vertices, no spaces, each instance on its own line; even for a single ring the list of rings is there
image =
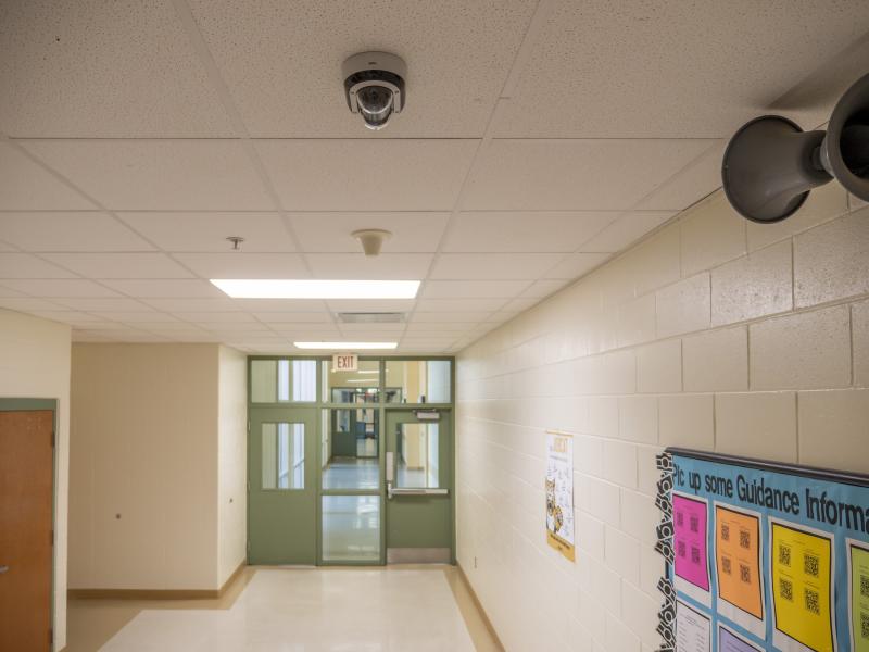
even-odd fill
[[[109,209],[274,209],[236,140],[30,140],[23,145]]]

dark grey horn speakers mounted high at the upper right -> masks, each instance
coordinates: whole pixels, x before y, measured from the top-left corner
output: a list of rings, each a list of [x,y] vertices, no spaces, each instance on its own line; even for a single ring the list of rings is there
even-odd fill
[[[869,75],[845,91],[827,131],[803,131],[780,115],[743,125],[727,146],[721,178],[730,204],[752,222],[790,217],[832,178],[869,201]]]

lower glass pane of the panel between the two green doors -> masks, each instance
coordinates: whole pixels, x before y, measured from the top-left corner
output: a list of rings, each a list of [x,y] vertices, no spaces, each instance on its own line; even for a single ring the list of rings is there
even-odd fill
[[[380,560],[380,497],[323,497],[323,561]]]

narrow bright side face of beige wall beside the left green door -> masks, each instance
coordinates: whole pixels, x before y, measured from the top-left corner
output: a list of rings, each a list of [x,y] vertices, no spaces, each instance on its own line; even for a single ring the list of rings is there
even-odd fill
[[[223,586],[248,555],[248,358],[221,347],[218,362],[217,584]]]

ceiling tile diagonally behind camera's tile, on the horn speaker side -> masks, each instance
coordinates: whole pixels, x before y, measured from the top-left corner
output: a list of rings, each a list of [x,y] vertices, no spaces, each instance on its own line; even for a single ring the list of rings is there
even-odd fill
[[[627,210],[709,148],[708,140],[494,140],[465,209]]]

